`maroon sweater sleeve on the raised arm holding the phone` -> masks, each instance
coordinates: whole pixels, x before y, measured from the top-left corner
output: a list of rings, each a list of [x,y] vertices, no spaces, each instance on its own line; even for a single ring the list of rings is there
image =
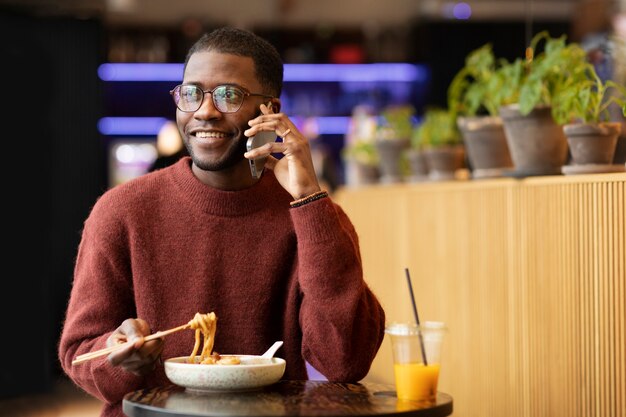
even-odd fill
[[[385,313],[363,279],[356,231],[330,198],[290,212],[298,239],[304,357],[330,381],[359,381],[382,343]]]

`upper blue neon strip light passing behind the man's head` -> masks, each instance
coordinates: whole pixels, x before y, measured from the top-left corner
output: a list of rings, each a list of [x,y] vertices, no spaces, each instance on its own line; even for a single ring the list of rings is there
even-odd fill
[[[173,81],[183,79],[183,64],[102,64],[103,81]],[[285,82],[426,81],[428,70],[407,63],[285,64]]]

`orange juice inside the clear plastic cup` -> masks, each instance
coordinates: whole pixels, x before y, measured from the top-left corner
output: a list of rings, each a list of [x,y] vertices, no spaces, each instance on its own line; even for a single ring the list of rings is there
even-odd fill
[[[401,400],[434,401],[437,396],[439,364],[409,362],[394,364],[396,391]]]

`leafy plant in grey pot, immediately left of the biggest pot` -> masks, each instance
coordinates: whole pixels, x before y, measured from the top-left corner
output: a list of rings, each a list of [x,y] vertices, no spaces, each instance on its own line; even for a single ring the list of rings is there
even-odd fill
[[[491,44],[472,51],[448,88],[448,108],[456,114],[474,178],[499,177],[513,169],[502,118],[500,79]]]

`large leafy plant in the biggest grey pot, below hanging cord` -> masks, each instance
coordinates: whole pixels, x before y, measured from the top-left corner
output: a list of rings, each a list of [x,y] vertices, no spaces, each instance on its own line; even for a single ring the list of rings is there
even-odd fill
[[[535,53],[541,41],[543,50]],[[567,160],[567,141],[554,119],[552,102],[571,79],[580,79],[585,51],[566,36],[535,35],[526,59],[503,63],[496,70],[501,89],[500,116],[515,165],[513,176],[560,174]]]

